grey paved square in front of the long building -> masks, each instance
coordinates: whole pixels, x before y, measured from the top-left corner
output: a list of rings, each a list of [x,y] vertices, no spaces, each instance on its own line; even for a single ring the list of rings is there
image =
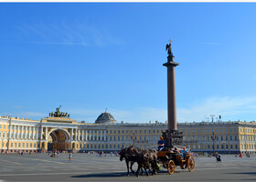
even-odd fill
[[[173,175],[166,169],[156,176],[126,177],[126,166],[119,157],[95,154],[0,154],[0,182],[3,181],[251,181],[256,180],[256,157],[222,156],[216,163],[215,157],[197,157],[196,168],[176,168]],[[136,167],[133,167],[134,169]]]

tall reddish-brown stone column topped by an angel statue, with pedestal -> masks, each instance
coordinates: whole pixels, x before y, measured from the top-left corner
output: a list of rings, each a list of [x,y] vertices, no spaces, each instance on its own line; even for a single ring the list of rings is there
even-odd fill
[[[172,53],[172,41],[166,45],[168,53],[167,62],[163,66],[167,67],[167,101],[168,101],[168,130],[163,132],[165,147],[181,147],[183,145],[183,134],[177,130],[176,126],[176,72],[175,68],[179,64],[175,62]]]

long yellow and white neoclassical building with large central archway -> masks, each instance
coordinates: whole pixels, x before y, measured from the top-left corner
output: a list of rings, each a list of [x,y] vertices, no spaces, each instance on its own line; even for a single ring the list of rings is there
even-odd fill
[[[195,152],[233,154],[256,151],[254,121],[178,123],[177,126],[183,131],[185,146]],[[40,121],[0,116],[0,149],[2,152],[46,152],[53,149],[110,152],[130,145],[156,148],[159,136],[166,129],[166,122],[116,123],[108,112],[102,113],[94,124],[79,123],[57,108]]]

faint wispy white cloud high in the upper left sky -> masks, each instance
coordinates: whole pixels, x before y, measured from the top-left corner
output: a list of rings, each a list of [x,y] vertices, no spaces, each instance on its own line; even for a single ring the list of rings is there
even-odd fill
[[[93,27],[86,22],[71,22],[65,20],[58,24],[18,25],[22,39],[14,43],[50,44],[50,45],[124,45],[123,40],[108,32],[107,29]],[[37,37],[37,40],[35,40]],[[29,41],[31,40],[31,41]],[[34,41],[32,41],[34,40]],[[1,42],[12,42],[10,40]]]

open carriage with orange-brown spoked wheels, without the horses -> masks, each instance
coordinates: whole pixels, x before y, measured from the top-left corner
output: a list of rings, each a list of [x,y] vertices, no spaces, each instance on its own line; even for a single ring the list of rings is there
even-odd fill
[[[158,164],[162,164],[167,168],[170,175],[172,175],[177,166],[181,169],[186,169],[192,172],[195,169],[195,159],[190,152],[186,152],[183,155],[176,150],[164,150],[157,152]]]

